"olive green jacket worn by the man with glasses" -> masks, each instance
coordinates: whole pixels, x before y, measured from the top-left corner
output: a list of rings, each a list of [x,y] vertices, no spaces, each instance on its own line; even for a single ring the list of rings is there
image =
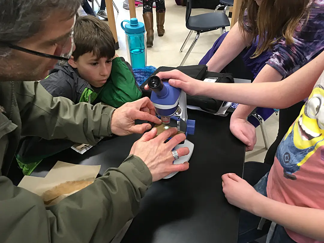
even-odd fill
[[[67,98],[53,98],[38,82],[0,81],[1,242],[110,242],[134,217],[152,183],[151,173],[136,156],[49,207],[5,177],[21,136],[95,144],[95,137],[111,134],[112,112],[101,104],[74,105]]]

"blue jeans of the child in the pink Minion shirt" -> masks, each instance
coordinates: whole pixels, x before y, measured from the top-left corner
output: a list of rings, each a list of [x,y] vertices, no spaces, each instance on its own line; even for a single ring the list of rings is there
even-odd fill
[[[251,163],[251,162],[248,162],[248,163]],[[255,163],[255,162],[252,162],[252,163]],[[243,173],[243,175],[244,175],[244,173]],[[253,186],[254,189],[257,192],[259,192],[260,194],[262,194],[263,196],[267,196],[268,175],[269,175],[269,172],[267,172],[266,175],[263,176],[259,180],[259,182]],[[244,176],[243,176],[243,178],[244,178]],[[248,182],[249,182],[249,180],[248,180]],[[261,220],[260,217],[253,215],[245,210],[241,210],[239,230],[238,230],[238,243],[251,242],[253,240],[256,240],[256,239],[268,234],[268,231],[269,231],[269,228],[270,228],[272,222],[269,220],[266,220],[262,229],[258,230],[260,220]],[[282,227],[280,225],[276,225],[276,227],[274,229],[273,236],[270,240],[270,243],[295,243],[295,241],[292,240],[288,236],[288,234],[284,230],[284,227]]]

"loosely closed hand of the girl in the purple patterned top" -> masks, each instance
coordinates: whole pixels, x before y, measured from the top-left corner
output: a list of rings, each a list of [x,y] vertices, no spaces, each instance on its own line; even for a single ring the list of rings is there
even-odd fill
[[[229,129],[234,136],[246,145],[246,151],[253,150],[254,145],[257,143],[257,134],[255,127],[249,121],[232,115]]]

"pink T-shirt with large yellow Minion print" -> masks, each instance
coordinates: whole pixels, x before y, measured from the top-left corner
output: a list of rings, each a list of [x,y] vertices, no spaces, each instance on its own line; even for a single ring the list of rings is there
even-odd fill
[[[278,146],[267,196],[290,205],[324,209],[324,72]],[[287,227],[285,231],[295,242],[323,242]]]

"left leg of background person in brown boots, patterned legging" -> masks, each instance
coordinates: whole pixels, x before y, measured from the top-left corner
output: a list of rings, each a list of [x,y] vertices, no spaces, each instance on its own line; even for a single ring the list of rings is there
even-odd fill
[[[154,40],[153,30],[153,2],[154,0],[143,0],[143,19],[146,30],[146,46],[152,47]]]

